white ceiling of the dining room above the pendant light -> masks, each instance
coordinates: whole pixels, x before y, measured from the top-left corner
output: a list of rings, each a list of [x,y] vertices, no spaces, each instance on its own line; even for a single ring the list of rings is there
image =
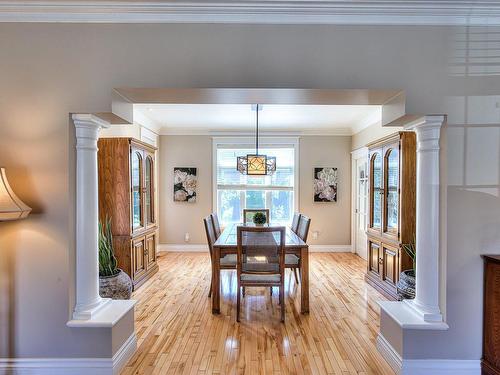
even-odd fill
[[[153,125],[160,134],[252,132],[255,110],[250,104],[135,104],[134,119]],[[263,105],[263,132],[351,135],[380,123],[379,105]]]

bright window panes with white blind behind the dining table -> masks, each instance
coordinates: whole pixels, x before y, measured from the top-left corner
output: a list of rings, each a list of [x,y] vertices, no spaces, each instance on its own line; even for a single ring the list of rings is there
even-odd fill
[[[244,208],[269,208],[273,223],[288,224],[296,201],[295,144],[259,148],[259,154],[276,157],[271,176],[247,176],[236,170],[236,158],[253,154],[252,146],[216,145],[214,205],[223,226],[243,221]]]

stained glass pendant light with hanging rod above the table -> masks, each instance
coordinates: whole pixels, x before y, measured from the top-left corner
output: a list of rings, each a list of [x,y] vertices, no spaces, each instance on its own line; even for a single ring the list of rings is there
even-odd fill
[[[257,104],[255,126],[255,154],[238,156],[236,169],[241,174],[250,176],[266,176],[276,172],[276,158],[259,154],[259,105]]]

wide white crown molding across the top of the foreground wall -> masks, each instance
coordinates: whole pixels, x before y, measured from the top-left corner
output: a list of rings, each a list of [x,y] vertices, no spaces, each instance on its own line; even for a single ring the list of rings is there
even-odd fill
[[[494,0],[5,1],[0,22],[500,25]]]

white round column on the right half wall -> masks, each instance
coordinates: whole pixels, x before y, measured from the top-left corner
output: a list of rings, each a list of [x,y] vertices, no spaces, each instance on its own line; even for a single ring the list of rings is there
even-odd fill
[[[411,126],[417,136],[416,291],[405,300],[424,321],[441,322],[439,309],[439,139],[444,116]]]

